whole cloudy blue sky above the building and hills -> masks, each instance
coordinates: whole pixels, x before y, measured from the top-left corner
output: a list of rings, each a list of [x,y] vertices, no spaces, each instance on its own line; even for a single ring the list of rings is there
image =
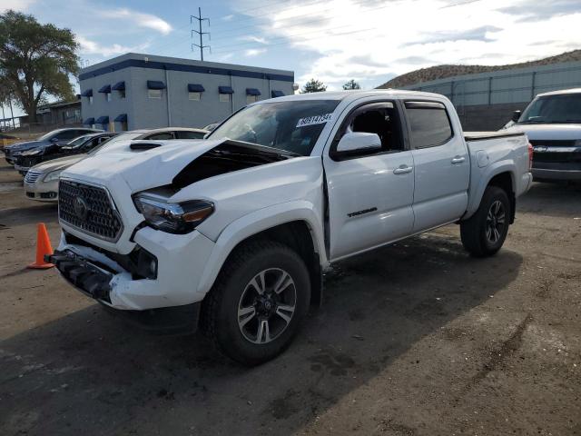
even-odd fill
[[[581,0],[0,0],[70,28],[83,64],[127,52],[291,70],[370,89],[435,64],[512,64],[581,48]]]

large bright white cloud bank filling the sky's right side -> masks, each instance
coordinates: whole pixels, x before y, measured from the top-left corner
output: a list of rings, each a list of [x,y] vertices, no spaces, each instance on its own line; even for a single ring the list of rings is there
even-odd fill
[[[253,5],[258,0],[239,7]],[[554,11],[544,12],[543,20],[525,14],[535,11],[537,0],[510,5],[506,0],[329,0],[316,5],[302,0],[302,5],[282,4],[276,14],[262,18],[261,28],[269,40],[288,40],[298,58],[300,51],[315,57],[300,65],[300,83],[315,77],[329,89],[340,89],[351,78],[379,85],[394,74],[434,64],[509,64],[559,54],[564,46],[581,48],[578,0],[547,3]],[[278,45],[277,50],[290,48]]]

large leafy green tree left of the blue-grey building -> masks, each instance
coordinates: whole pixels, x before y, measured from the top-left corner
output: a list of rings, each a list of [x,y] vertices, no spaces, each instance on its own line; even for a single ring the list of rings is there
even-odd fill
[[[0,15],[0,79],[31,122],[47,96],[74,99],[69,76],[78,71],[77,48],[69,29],[41,25],[34,16],[12,10]]]

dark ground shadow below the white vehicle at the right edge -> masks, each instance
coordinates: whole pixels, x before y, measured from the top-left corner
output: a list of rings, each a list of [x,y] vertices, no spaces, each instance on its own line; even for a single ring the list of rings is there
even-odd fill
[[[527,194],[518,198],[517,212],[540,213],[556,217],[581,216],[581,185],[533,183]]]

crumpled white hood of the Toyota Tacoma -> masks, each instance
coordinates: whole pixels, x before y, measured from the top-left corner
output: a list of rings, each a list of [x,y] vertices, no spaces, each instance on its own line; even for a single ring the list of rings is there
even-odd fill
[[[64,171],[62,176],[98,184],[113,184],[121,177],[134,193],[172,183],[173,177],[188,163],[224,141],[146,141],[161,146],[140,151],[131,150],[131,141],[127,141],[125,146],[115,144],[114,150],[89,154]]]

